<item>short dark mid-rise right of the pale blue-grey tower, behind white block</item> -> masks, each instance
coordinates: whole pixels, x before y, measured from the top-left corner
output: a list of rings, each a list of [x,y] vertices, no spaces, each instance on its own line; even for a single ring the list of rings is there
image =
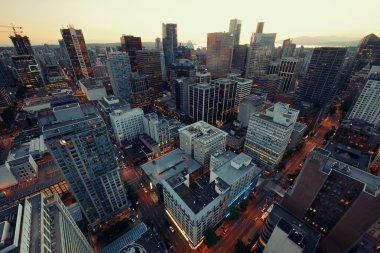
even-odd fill
[[[148,76],[133,74],[131,77],[132,106],[147,110],[151,104],[151,93]]]

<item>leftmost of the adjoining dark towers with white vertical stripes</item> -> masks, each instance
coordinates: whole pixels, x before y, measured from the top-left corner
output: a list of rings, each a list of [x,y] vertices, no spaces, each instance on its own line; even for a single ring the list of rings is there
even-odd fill
[[[218,111],[219,86],[196,83],[189,86],[189,117],[215,125]]]

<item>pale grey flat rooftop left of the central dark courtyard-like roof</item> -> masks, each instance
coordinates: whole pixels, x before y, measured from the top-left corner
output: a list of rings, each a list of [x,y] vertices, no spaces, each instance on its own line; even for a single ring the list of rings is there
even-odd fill
[[[181,149],[175,149],[140,166],[154,185],[183,171],[186,174],[202,168],[202,165]]]

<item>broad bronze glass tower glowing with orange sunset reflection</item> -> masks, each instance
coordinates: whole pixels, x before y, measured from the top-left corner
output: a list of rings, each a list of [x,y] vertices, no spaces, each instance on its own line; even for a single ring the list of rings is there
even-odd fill
[[[230,72],[233,50],[230,33],[208,33],[206,67],[212,78],[227,77]]]

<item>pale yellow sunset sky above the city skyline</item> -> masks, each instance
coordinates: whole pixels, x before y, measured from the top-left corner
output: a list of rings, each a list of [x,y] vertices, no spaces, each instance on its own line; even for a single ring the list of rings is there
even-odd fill
[[[0,25],[21,26],[32,45],[58,44],[60,28],[82,29],[87,43],[120,42],[122,34],[143,42],[161,37],[162,23],[176,23],[178,41],[205,45],[208,32],[228,31],[242,20],[240,43],[249,42],[258,21],[277,40],[380,36],[380,0],[0,0]],[[0,27],[0,46],[11,45]]]

